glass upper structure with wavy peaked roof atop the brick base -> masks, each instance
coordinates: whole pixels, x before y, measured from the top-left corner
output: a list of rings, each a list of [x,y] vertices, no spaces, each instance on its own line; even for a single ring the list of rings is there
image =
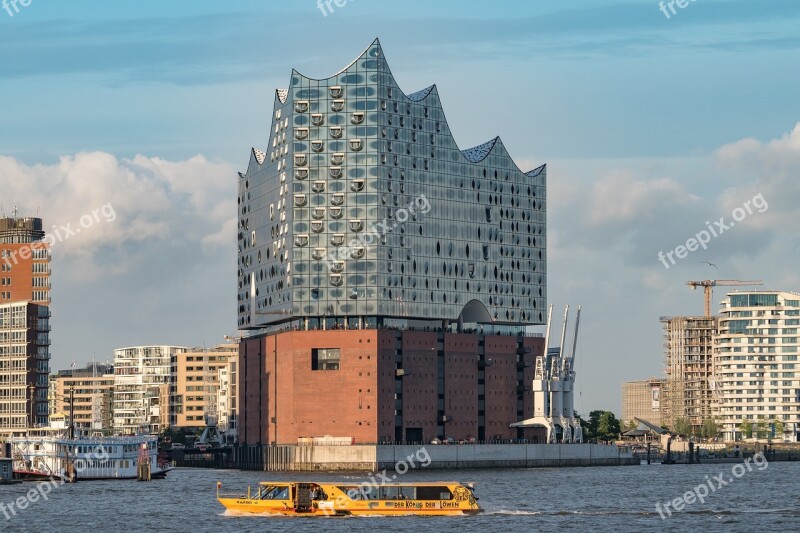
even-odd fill
[[[459,149],[436,86],[403,93],[377,40],[293,71],[271,118],[239,175],[239,329],[545,322],[545,166]]]

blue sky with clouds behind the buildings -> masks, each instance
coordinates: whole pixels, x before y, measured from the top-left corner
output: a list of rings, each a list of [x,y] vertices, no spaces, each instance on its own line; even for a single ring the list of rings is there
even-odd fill
[[[800,291],[800,2],[339,4],[0,9],[0,210],[61,235],[53,370],[236,334],[236,172],[292,68],[330,76],[375,37],[407,94],[437,84],[459,146],[548,164],[579,412],[619,415],[623,381],[663,374],[659,318],[703,311],[687,281]]]

